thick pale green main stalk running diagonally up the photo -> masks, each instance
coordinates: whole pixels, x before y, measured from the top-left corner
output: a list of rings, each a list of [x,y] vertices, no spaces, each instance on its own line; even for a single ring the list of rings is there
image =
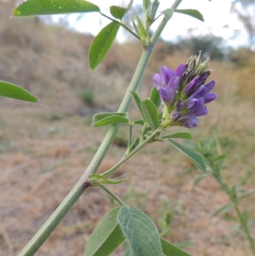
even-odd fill
[[[177,8],[178,5],[181,3],[182,0],[176,0],[171,8]],[[131,102],[131,96],[129,91],[136,91],[138,85],[140,84],[140,81],[142,79],[143,72],[145,70],[145,67],[147,66],[147,63],[149,62],[150,56],[152,55],[152,51],[154,50],[154,47],[157,43],[157,40],[159,39],[159,36],[161,32],[164,29],[164,26],[166,26],[168,22],[168,19],[164,17],[164,19],[161,21],[161,24],[159,24],[159,27],[155,31],[154,35],[152,36],[151,45],[143,50],[142,57],[140,59],[140,62],[138,63],[138,66],[136,68],[136,72],[134,74],[133,79],[131,80],[131,84],[128,87],[128,90],[122,100],[122,103],[119,107],[119,112],[126,112],[128,110],[128,107]],[[87,170],[85,173],[80,177],[79,181],[71,192],[66,196],[66,198],[61,202],[59,207],[55,209],[54,213],[48,218],[47,222],[43,224],[40,230],[34,235],[34,237],[27,243],[27,245],[24,247],[24,249],[18,254],[18,256],[31,256],[36,253],[38,248],[45,242],[48,236],[52,233],[52,231],[57,227],[57,225],[61,222],[62,218],[68,213],[69,209],[75,204],[75,202],[78,200],[80,195],[85,191],[87,187],[89,187],[89,184],[87,183],[87,178],[90,174],[94,174],[96,170],[98,170],[99,165],[105,158],[105,155],[112,144],[112,141],[119,129],[119,124],[115,124],[110,126],[110,129],[106,133],[105,139],[101,143],[101,146],[99,147],[97,153],[95,154],[94,158],[92,159],[90,165],[87,167]]]

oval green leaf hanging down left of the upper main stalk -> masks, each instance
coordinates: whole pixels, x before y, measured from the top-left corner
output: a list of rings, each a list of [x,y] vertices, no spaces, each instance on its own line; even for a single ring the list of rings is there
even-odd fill
[[[94,38],[89,49],[89,65],[94,70],[110,50],[120,25],[110,22]]]

